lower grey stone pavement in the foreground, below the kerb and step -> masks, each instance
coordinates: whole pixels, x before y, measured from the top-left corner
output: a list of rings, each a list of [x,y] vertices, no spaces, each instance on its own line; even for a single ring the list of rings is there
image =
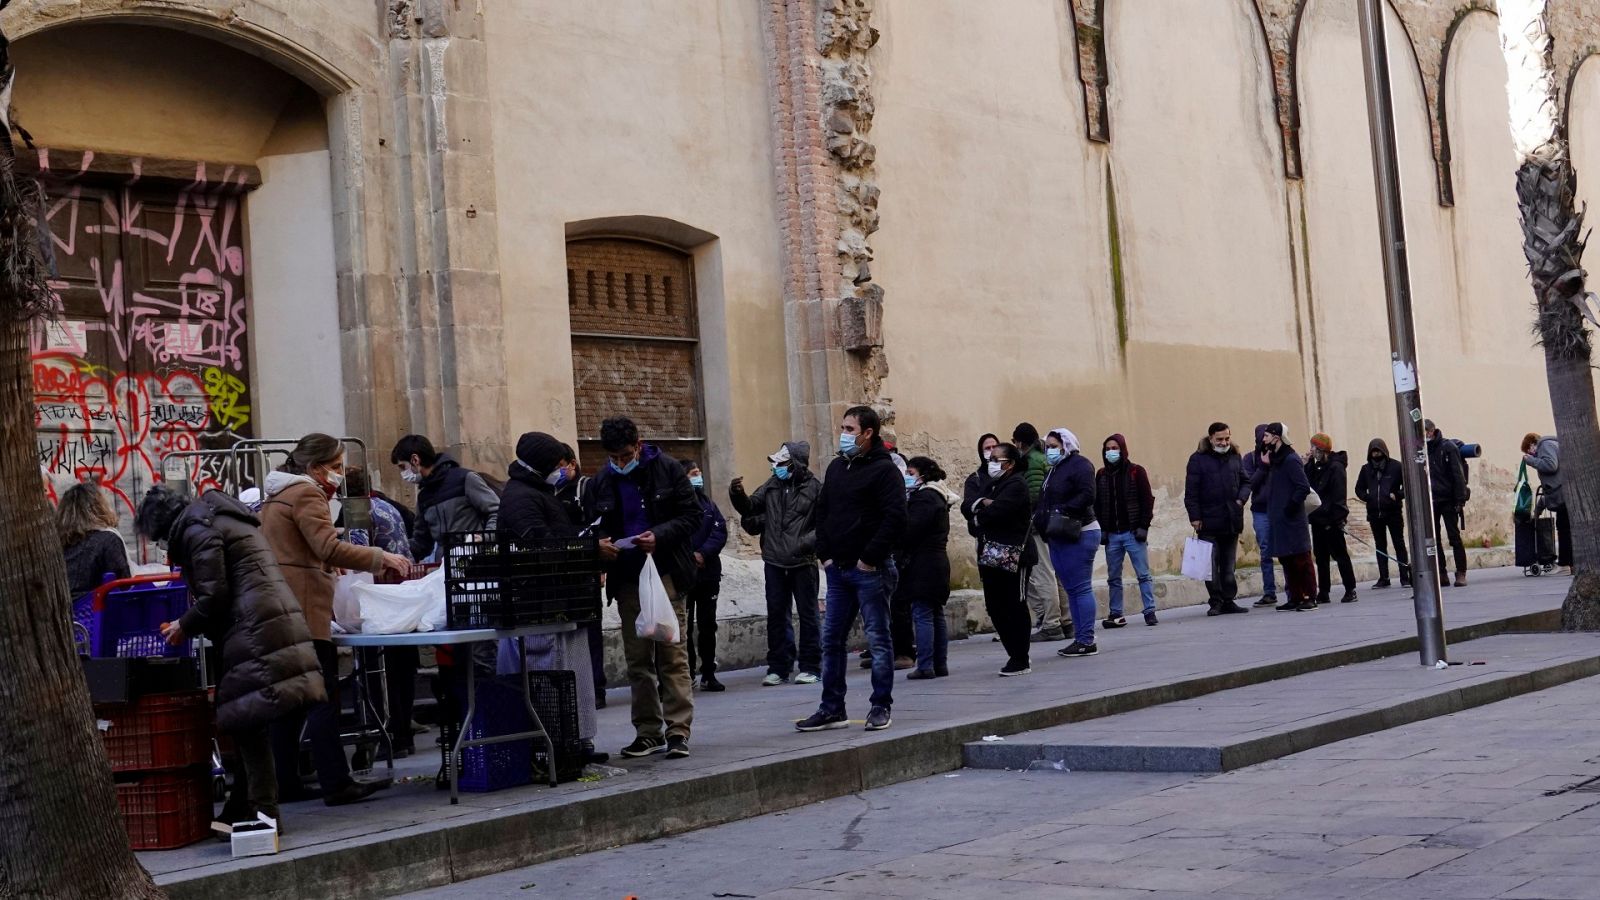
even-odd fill
[[[976,772],[416,900],[1594,900],[1600,679],[1226,775]]]

